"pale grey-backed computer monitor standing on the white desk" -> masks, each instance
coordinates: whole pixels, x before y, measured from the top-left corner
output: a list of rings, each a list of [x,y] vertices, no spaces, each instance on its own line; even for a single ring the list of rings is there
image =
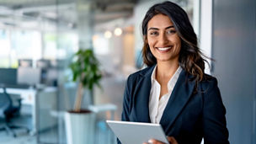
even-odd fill
[[[33,67],[18,68],[18,83],[35,86],[40,83],[41,69]]]

